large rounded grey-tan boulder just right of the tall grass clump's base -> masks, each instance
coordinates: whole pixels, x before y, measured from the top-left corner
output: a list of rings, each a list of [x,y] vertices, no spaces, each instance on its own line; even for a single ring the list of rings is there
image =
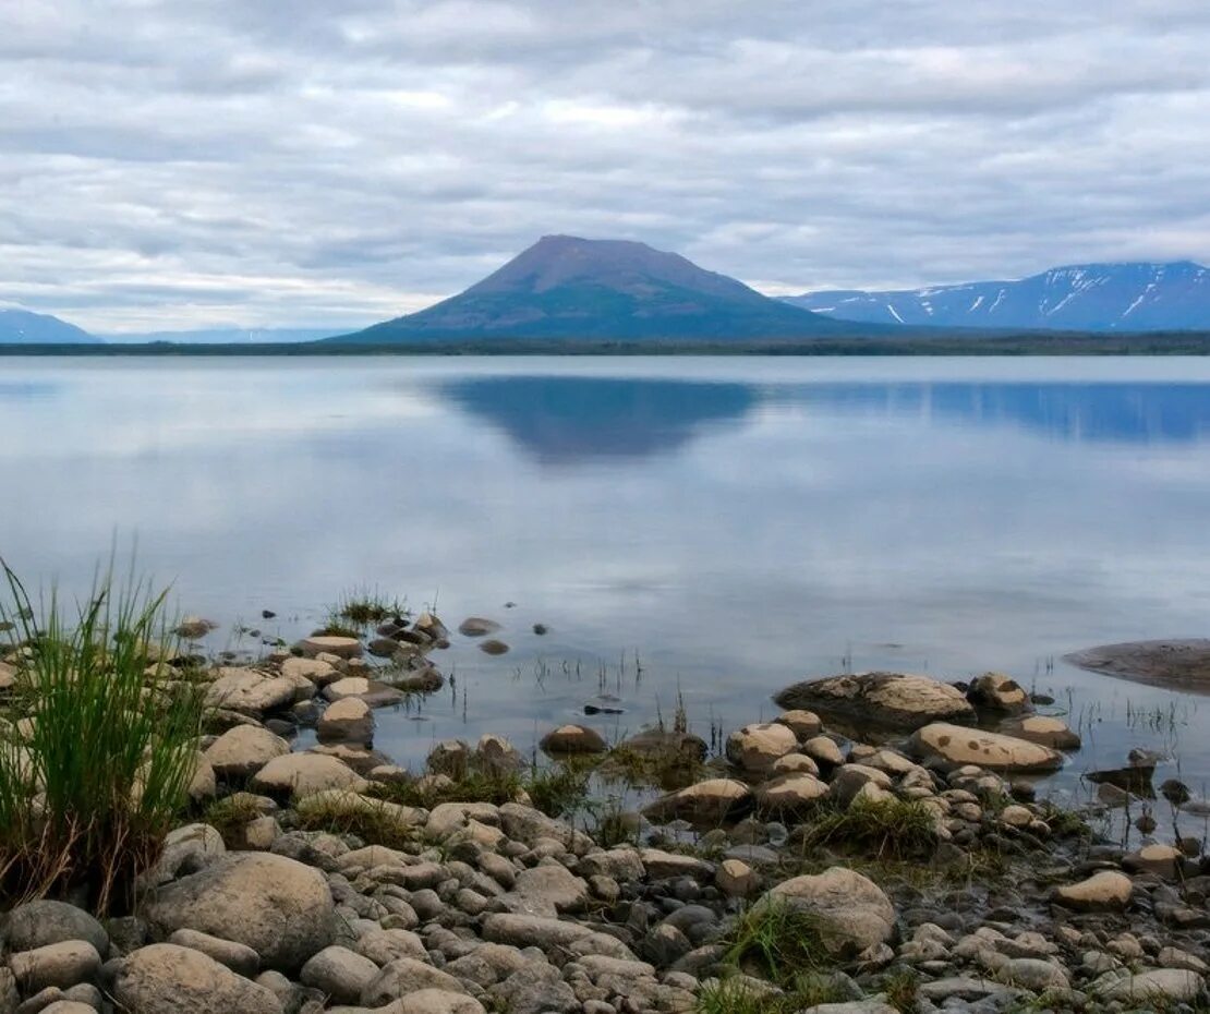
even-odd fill
[[[318,870],[284,855],[240,853],[160,888],[143,915],[165,935],[196,929],[235,940],[264,967],[290,973],[332,941],[334,912]]]

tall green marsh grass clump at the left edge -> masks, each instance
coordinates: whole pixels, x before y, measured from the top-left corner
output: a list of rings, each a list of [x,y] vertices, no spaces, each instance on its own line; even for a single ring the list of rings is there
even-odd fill
[[[189,802],[202,690],[169,666],[165,594],[113,561],[87,600],[38,607],[2,565],[0,620],[24,646],[0,731],[0,894],[83,897],[97,911],[133,901],[140,871]]]

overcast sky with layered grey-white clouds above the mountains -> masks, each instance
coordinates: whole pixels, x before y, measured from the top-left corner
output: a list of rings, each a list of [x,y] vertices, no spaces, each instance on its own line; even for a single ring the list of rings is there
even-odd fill
[[[4,0],[0,305],[353,328],[544,234],[770,294],[1210,261],[1205,0]]]

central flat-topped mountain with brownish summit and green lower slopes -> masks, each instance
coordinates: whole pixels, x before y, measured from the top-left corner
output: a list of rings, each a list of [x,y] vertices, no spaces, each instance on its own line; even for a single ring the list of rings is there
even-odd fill
[[[543,236],[451,299],[332,340],[744,340],[868,330],[770,299],[645,243]]]

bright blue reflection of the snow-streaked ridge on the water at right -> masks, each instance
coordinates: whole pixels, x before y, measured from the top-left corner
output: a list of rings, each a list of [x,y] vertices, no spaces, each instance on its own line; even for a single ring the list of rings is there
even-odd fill
[[[1210,431],[1203,384],[819,384],[790,398],[860,414],[1012,424],[1064,440],[1187,443]]]

